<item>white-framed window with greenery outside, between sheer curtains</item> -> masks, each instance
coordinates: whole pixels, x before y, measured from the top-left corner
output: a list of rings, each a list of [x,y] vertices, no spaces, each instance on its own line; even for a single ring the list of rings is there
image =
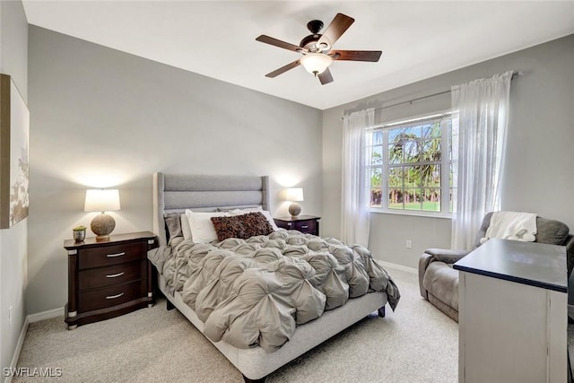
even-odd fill
[[[378,126],[368,135],[371,210],[452,213],[450,114]]]

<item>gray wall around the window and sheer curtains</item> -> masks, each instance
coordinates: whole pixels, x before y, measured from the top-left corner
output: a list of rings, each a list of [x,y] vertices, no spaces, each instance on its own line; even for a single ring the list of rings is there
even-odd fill
[[[452,85],[507,70],[525,75],[512,82],[502,209],[538,213],[574,231],[574,35],[527,48],[392,91],[327,109],[323,115],[323,233],[339,235],[341,117],[365,108],[412,100]],[[449,94],[378,110],[378,122],[449,109]],[[405,248],[405,240],[413,248]],[[450,247],[450,220],[371,213],[375,257],[416,267],[424,248]]]

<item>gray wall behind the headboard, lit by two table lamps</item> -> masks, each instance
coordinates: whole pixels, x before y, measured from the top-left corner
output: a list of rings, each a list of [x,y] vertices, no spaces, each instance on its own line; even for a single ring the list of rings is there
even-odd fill
[[[152,173],[271,178],[304,188],[321,214],[321,111],[30,26],[30,284],[28,311],[63,307],[63,241],[86,187],[118,187],[114,232],[152,230]]]

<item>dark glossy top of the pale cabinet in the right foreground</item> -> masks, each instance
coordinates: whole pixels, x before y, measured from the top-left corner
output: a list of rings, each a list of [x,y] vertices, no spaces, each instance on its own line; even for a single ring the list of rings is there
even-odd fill
[[[568,292],[566,248],[563,246],[490,239],[453,267],[466,273]]]

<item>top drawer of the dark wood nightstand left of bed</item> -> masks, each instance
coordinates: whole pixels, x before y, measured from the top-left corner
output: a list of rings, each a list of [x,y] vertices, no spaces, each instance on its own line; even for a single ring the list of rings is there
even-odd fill
[[[80,270],[107,265],[123,264],[142,259],[147,254],[145,242],[110,245],[98,248],[84,248],[79,259]]]

